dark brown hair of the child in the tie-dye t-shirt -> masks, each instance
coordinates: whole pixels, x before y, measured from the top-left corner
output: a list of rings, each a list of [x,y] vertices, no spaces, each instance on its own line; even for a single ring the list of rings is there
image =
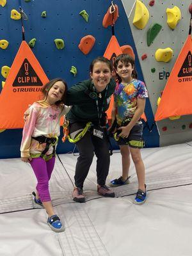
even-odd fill
[[[120,54],[116,57],[116,60],[114,61],[115,70],[117,68],[118,61],[121,61],[122,63],[125,63],[125,64],[131,63],[131,65],[133,67],[131,76],[132,76],[132,78],[135,78],[135,79],[138,78],[138,74],[135,69],[134,60],[129,54]],[[118,74],[116,74],[116,80],[118,80],[118,83],[121,83],[121,81],[122,81],[121,77],[118,76]]]

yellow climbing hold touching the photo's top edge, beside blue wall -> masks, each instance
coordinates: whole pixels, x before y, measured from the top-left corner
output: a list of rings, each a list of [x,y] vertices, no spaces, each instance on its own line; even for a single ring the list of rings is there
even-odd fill
[[[136,8],[134,12],[134,19],[132,24],[138,29],[143,29],[147,25],[149,19],[149,13],[145,4],[141,3],[140,0],[136,0]]]

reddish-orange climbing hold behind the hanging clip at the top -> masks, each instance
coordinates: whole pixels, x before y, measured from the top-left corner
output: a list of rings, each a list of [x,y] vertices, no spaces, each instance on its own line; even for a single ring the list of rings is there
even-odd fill
[[[112,10],[113,7],[113,10]],[[102,26],[104,28],[108,28],[108,26],[114,25],[116,20],[118,19],[118,6],[113,4],[109,6],[108,11],[104,15],[102,20]]]

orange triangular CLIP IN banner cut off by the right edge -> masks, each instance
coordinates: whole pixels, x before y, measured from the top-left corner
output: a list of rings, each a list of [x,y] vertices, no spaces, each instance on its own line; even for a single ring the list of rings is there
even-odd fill
[[[192,38],[188,36],[175,61],[157,108],[155,120],[192,114]]]

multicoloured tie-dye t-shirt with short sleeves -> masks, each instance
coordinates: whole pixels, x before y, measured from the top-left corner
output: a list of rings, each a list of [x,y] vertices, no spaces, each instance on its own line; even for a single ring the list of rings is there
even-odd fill
[[[125,118],[132,117],[137,107],[137,99],[147,98],[145,83],[133,79],[131,83],[116,85],[114,100],[116,103],[116,121],[121,125]]]

